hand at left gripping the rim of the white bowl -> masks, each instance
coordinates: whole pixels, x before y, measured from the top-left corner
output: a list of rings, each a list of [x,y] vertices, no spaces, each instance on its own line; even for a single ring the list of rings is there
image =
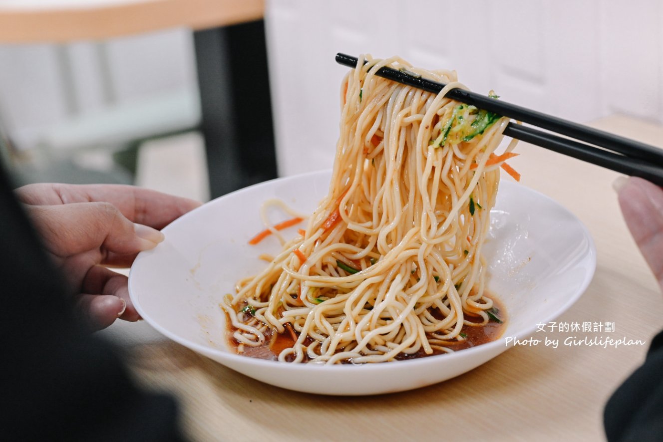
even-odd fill
[[[29,184],[15,194],[91,329],[108,327],[118,317],[140,319],[129,298],[127,277],[107,266],[131,266],[138,252],[163,241],[156,229],[200,205],[113,184]]]

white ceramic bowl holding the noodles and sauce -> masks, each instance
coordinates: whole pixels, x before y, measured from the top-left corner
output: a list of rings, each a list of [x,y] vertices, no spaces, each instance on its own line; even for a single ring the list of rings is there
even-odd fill
[[[234,293],[239,278],[265,266],[257,258],[261,252],[280,249],[274,237],[247,244],[264,228],[261,203],[276,197],[310,213],[328,192],[329,180],[330,172],[272,180],[217,198],[168,225],[166,240],[139,254],[131,268],[129,292],[141,316],[173,341],[268,384],[320,394],[381,394],[441,382],[496,357],[509,348],[505,338],[522,339],[537,323],[568,309],[594,274],[595,247],[578,219],[541,193],[502,182],[485,245],[488,287],[509,315],[501,339],[449,355],[361,366],[236,355],[227,346],[219,302]],[[289,217],[272,212],[274,223]],[[295,229],[284,235],[294,237]]]

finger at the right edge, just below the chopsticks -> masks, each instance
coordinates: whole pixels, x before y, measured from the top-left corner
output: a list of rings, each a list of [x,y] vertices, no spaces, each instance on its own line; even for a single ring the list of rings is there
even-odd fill
[[[619,205],[642,256],[663,287],[663,190],[629,178],[619,190]]]

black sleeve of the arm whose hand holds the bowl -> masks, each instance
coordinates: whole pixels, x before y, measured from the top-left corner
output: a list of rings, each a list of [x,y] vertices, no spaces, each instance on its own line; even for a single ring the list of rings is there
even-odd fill
[[[72,315],[60,275],[0,164],[3,440],[181,440],[176,404],[139,390],[109,343]]]

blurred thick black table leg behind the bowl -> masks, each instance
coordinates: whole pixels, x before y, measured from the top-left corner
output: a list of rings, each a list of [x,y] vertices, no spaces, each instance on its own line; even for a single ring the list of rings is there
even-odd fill
[[[194,32],[210,195],[276,178],[265,24]]]

